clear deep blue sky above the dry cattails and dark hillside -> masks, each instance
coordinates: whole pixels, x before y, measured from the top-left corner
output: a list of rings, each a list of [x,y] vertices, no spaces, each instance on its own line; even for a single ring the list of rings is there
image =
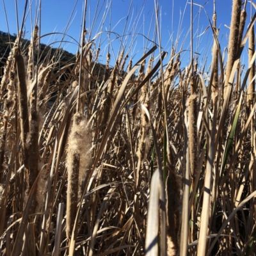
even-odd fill
[[[25,0],[17,1],[18,23],[19,28],[22,22]],[[11,34],[17,33],[17,19],[15,13],[15,0],[4,0],[0,8],[0,30],[8,31],[6,18],[4,14],[4,6],[8,19],[9,31]],[[29,0],[25,31],[26,38],[31,36],[31,22],[35,24],[36,16],[38,15],[39,0]],[[67,35],[71,36],[77,42],[80,41],[82,13],[84,0],[42,0],[40,35],[44,36],[52,32],[65,32],[68,20],[70,23],[66,31]],[[190,27],[190,1],[186,0],[159,0],[159,22],[161,21],[161,45],[165,51],[170,53],[172,44],[179,35],[179,45],[177,50],[180,50],[184,41],[183,50],[189,49],[189,27]],[[211,52],[212,33],[209,26],[209,19],[212,20],[213,0],[194,0],[193,7],[193,31],[194,31],[194,51],[204,56]],[[200,8],[199,4],[204,6]],[[74,7],[76,5],[76,7]],[[250,12],[250,4],[247,6]],[[131,9],[129,9],[131,6]],[[30,8],[29,8],[30,7]],[[74,12],[72,13],[74,9]],[[130,10],[130,11],[129,11]],[[227,45],[228,28],[230,26],[230,17],[232,10],[232,0],[216,0],[217,25],[220,28],[220,38],[224,45]],[[254,10],[253,10],[254,11]],[[128,15],[129,13],[129,15]],[[121,48],[125,48],[125,52],[129,52],[132,58],[139,58],[145,51],[145,48],[152,47],[150,41],[157,42],[155,38],[154,26],[156,23],[155,3],[154,0],[88,0],[86,13],[86,28],[89,33],[87,39],[93,38],[97,33],[102,31],[95,40],[95,48],[100,47],[101,56],[106,56],[106,52],[112,52],[112,57],[115,56]],[[70,18],[70,15],[71,18]],[[93,24],[93,17],[96,17],[96,22]],[[127,18],[128,17],[128,18]],[[126,23],[127,22],[127,23]],[[126,24],[126,26],[125,26]],[[205,29],[207,31],[204,33]],[[113,33],[109,33],[111,31]],[[125,36],[122,36],[125,35]],[[127,36],[129,35],[129,36]],[[144,36],[143,36],[144,35]],[[186,39],[186,36],[188,38]],[[48,35],[42,38],[44,44],[60,41],[62,35]],[[61,44],[61,47],[67,51],[75,53],[77,51],[77,43],[70,37],[65,37],[65,41],[70,43]],[[111,44],[109,44],[111,42]],[[58,42],[54,47],[58,47]],[[207,53],[206,53],[207,52]]]

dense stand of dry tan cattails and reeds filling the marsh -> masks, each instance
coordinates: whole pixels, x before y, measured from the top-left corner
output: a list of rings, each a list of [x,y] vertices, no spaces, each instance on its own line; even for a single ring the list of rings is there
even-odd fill
[[[177,44],[163,64],[157,15],[156,45],[133,63],[123,42],[101,77],[99,35],[67,64],[35,60],[38,24],[29,46],[20,33],[1,77],[1,255],[255,255],[252,8],[233,1],[228,51],[214,8],[201,68]]]

